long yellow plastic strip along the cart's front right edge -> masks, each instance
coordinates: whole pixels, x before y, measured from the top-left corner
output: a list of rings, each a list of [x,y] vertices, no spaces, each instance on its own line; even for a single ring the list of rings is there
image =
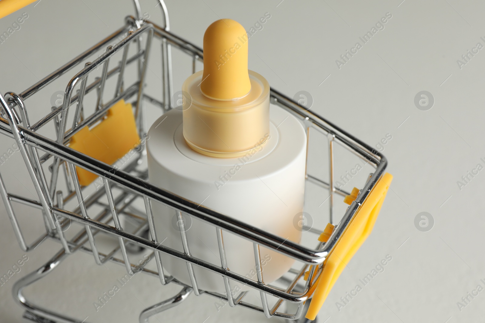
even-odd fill
[[[360,206],[335,249],[325,260],[323,272],[318,278],[318,282],[313,285],[315,292],[305,316],[307,319],[315,320],[318,311],[345,265],[352,259],[358,248],[371,233],[391,181],[392,175],[389,173],[385,173],[381,177],[377,185],[372,189],[371,194],[367,197],[367,200]]]

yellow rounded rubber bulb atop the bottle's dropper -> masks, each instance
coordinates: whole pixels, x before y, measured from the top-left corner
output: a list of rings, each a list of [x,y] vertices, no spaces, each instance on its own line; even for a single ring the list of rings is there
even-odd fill
[[[247,69],[247,34],[232,19],[220,19],[204,34],[204,73],[201,92],[214,100],[242,98],[251,90]]]

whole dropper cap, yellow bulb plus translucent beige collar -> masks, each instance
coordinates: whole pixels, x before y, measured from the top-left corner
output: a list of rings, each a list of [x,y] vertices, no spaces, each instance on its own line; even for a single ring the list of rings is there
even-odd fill
[[[204,70],[182,85],[183,136],[212,157],[253,154],[269,138],[268,81],[247,69],[248,38],[238,22],[221,19],[204,34]]]

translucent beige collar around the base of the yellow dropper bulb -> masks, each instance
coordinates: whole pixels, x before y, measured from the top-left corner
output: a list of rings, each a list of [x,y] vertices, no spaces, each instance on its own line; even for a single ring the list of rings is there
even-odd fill
[[[266,140],[270,130],[268,81],[249,71],[251,91],[242,99],[212,100],[198,87],[202,73],[182,86],[183,135],[196,152],[213,157],[238,157]]]

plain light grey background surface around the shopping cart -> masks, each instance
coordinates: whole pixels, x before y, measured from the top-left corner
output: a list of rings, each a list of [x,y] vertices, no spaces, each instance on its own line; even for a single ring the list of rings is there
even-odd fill
[[[461,69],[456,60],[478,42],[485,45],[480,39],[485,36],[485,3],[280,1],[236,4],[169,0],[167,6],[172,31],[199,46],[206,27],[214,20],[230,17],[249,29],[264,13],[271,13],[264,29],[250,40],[249,68],[290,97],[297,91],[310,92],[312,109],[372,146],[386,134],[392,135],[383,152],[389,160],[388,171],[394,175],[388,197],[372,235],[350,261],[323,305],[320,322],[483,320],[485,291],[461,311],[456,303],[478,284],[485,287],[480,281],[485,280],[485,221],[483,208],[479,207],[485,171],[461,190],[457,185],[461,176],[478,163],[484,166],[480,158],[485,158],[485,49]],[[143,1],[142,11],[161,23],[160,8],[155,8],[155,3]],[[38,77],[46,76],[121,27],[124,16],[132,14],[133,8],[128,0],[41,0],[2,18],[0,31],[6,31],[22,12],[28,12],[29,18],[21,30],[0,45],[2,93],[23,91]],[[385,29],[378,31],[339,69],[335,62],[339,56],[388,12],[392,18]],[[154,71],[160,76],[160,69]],[[435,98],[428,111],[414,105],[414,97],[420,91],[429,91]],[[49,111],[52,92],[39,96],[44,100],[42,105],[29,101],[35,118]],[[12,143],[2,138],[0,151],[6,151]],[[9,159],[0,171],[9,188],[29,194],[22,184],[29,179],[20,159]],[[423,211],[435,219],[434,228],[428,232],[414,226],[415,216]],[[37,228],[24,224],[24,234],[33,236]],[[3,205],[0,246],[0,273],[4,274],[23,253]],[[23,311],[11,296],[13,280],[36,269],[58,248],[53,242],[39,246],[29,253],[29,261],[21,272],[0,287],[2,322],[20,322]],[[339,298],[386,255],[391,255],[392,261],[385,271],[339,311]],[[61,308],[81,320],[89,315],[90,322],[135,322],[143,304],[151,305],[153,299],[160,300],[178,291],[177,286],[169,286],[153,294],[152,278],[135,277],[136,283],[120,291],[115,301],[96,313],[92,301],[110,287],[109,279],[123,275],[122,267],[108,266],[109,271],[99,269],[86,254],[71,257],[57,276],[46,279],[43,286],[50,283],[51,287],[32,291],[32,299]],[[181,307],[157,318],[161,322],[203,322],[209,316],[208,323],[265,322],[261,315],[245,309],[225,307],[217,312],[213,299],[205,296],[191,296]],[[109,319],[110,315],[113,319]],[[274,318],[270,322],[279,321]]]

